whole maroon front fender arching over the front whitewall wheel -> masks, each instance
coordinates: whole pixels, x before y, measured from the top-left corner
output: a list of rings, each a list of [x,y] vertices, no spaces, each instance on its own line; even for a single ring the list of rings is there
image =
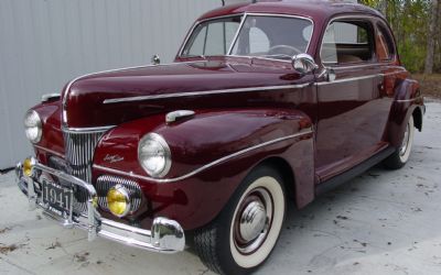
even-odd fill
[[[115,174],[140,184],[151,209],[139,216],[142,227],[155,216],[174,219],[186,230],[206,224],[246,175],[271,157],[290,164],[295,189],[302,189],[295,195],[305,205],[314,188],[311,127],[304,113],[281,109],[200,110],[194,118],[170,125],[163,114],[149,117],[103,136],[95,152],[94,175]],[[172,152],[172,168],[163,179],[150,178],[138,164],[138,142],[149,132],[162,135]],[[123,160],[105,162],[107,155]]]

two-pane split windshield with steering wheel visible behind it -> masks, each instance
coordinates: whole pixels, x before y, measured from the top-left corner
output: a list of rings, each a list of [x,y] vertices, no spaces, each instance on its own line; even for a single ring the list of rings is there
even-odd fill
[[[306,19],[277,15],[223,18],[198,24],[181,56],[238,55],[291,59],[306,52],[311,35],[312,22]]]

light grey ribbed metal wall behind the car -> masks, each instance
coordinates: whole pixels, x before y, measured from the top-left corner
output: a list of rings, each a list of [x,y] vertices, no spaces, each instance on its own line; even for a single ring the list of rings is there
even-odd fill
[[[220,0],[1,0],[0,169],[31,153],[24,112],[86,73],[171,62]]]

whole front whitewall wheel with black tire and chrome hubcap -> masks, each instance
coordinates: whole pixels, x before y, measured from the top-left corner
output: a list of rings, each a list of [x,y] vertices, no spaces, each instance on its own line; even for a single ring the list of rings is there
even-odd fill
[[[219,274],[248,274],[268,258],[286,213],[282,178],[261,166],[250,173],[220,215],[196,230],[202,262]]]

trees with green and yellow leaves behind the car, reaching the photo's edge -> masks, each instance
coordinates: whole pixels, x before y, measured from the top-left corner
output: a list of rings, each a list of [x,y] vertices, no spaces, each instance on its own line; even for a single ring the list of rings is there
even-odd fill
[[[359,2],[385,14],[396,35],[401,62],[410,72],[424,72],[426,61],[429,61],[428,66],[441,73],[438,16],[441,12],[440,0],[359,0]],[[431,35],[429,30],[433,30]],[[433,53],[428,51],[429,48],[433,48]]]

